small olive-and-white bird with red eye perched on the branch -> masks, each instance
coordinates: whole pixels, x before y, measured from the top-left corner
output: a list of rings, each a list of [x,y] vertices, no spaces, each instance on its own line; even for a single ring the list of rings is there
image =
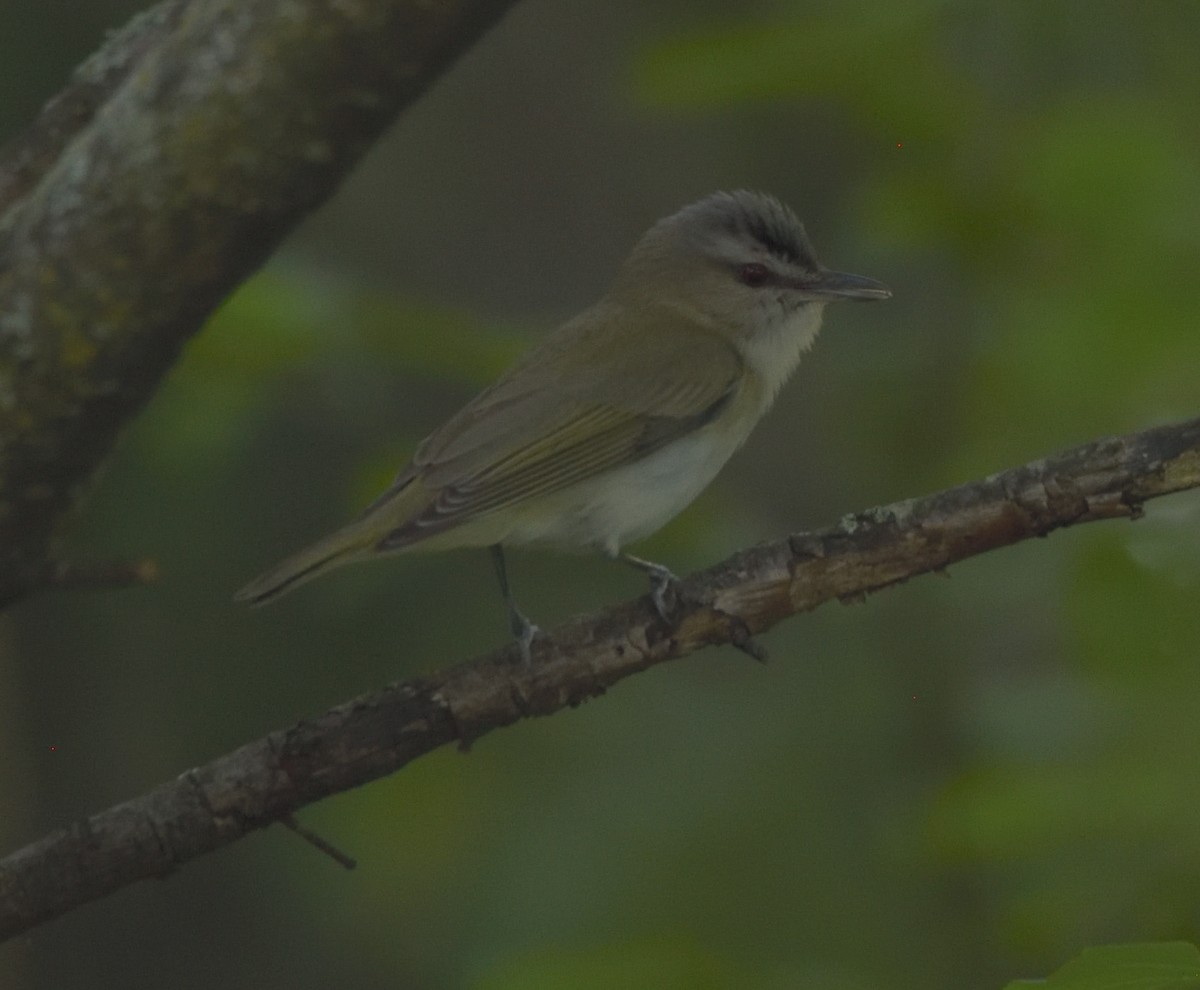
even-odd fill
[[[648,572],[666,618],[673,575],[622,547],[713,480],[812,344],[827,302],[889,295],[823,268],[769,196],[692,203],[642,236],[607,295],[431,433],[354,522],[238,598],[263,604],[367,557],[490,547],[528,659],[536,626],[512,601],[503,547],[550,544]]]

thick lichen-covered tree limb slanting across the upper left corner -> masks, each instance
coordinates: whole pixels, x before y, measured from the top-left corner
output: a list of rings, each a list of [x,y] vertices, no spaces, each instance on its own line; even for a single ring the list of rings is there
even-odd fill
[[[167,0],[0,161],[0,605],[180,348],[514,0]]]

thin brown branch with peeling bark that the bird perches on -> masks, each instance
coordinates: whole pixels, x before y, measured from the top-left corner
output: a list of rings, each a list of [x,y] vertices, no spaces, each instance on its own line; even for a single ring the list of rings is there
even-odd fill
[[[256,828],[446,743],[548,715],[655,664],[745,642],[787,616],[1081,522],[1138,518],[1200,487],[1200,419],[1109,438],[926,498],[846,516],[689,577],[665,628],[647,599],[575,619],[426,678],[390,684],[188,770],[0,862],[0,938],[136,880],[166,876]]]

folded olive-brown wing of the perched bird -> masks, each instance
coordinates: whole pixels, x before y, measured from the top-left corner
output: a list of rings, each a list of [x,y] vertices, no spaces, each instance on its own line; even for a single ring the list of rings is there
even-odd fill
[[[396,520],[378,548],[634,463],[709,422],[742,380],[737,350],[682,319],[656,325],[632,358],[614,355],[611,335],[600,331],[569,324],[433,433],[392,490],[419,487],[428,500]],[[386,502],[377,503],[380,511]]]

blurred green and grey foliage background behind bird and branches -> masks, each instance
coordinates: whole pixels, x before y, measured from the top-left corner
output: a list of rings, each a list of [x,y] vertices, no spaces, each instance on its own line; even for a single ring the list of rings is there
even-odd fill
[[[134,0],[8,0],[0,137]],[[506,638],[484,553],[263,566],[347,518],[649,222],[774,192],[887,282],[680,572],[1200,408],[1200,5],[526,0],[188,347],[73,532],[161,583],[0,618],[0,848]],[[1200,930],[1200,497],[444,751],[0,947],[0,988],[1001,986]],[[516,554],[554,622],[642,592]]]

